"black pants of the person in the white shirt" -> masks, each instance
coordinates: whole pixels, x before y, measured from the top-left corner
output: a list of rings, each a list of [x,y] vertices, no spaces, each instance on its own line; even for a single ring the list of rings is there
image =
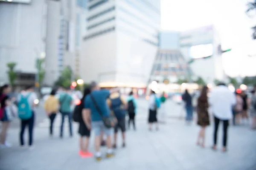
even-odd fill
[[[214,116],[214,144],[217,144],[217,133],[218,133],[218,125],[220,121],[223,121],[223,147],[227,146],[227,127],[228,120],[221,120]]]

